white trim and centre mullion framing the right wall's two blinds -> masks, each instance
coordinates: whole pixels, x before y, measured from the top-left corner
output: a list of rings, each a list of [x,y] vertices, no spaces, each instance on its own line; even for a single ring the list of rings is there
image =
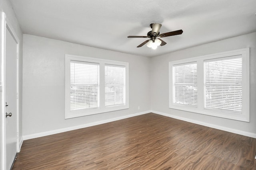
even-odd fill
[[[204,60],[215,59],[221,57],[229,57],[235,55],[242,55],[242,114],[231,113],[228,111],[218,111],[204,108]],[[173,89],[173,65],[182,63],[197,63],[197,78],[198,78],[198,106],[181,106],[174,104],[174,89]],[[234,119],[238,121],[250,121],[250,49],[238,49],[234,51],[226,51],[222,53],[215,53],[211,55],[203,55],[199,57],[193,57],[189,59],[182,59],[178,61],[169,62],[169,108],[178,109],[183,111],[189,111],[193,113],[200,113],[204,115],[211,115],[216,117],[222,117],[226,119]]]

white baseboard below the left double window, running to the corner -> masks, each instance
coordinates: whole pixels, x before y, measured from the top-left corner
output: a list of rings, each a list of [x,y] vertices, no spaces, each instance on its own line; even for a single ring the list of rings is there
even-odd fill
[[[143,111],[143,112],[140,112],[140,113],[134,113],[134,114],[120,116],[120,117],[114,117],[112,119],[96,121],[96,122],[92,122],[92,123],[87,123],[87,124],[73,126],[73,127],[67,127],[67,128],[63,128],[63,129],[56,129],[56,130],[53,130],[53,131],[46,131],[46,132],[35,133],[35,134],[31,134],[31,135],[24,135],[23,140],[34,139],[34,138],[44,137],[44,136],[48,136],[48,135],[54,135],[54,134],[57,134],[57,133],[72,131],[72,130],[76,130],[76,129],[82,129],[82,128],[85,128],[85,127],[100,125],[100,124],[103,124],[103,123],[108,123],[108,122],[112,122],[112,121],[126,119],[126,118],[129,118],[129,117],[143,115],[143,114],[146,114],[146,113],[150,113],[150,111]]]

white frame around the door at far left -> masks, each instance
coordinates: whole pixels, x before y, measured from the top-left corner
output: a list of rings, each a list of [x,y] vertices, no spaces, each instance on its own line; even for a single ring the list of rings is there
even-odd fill
[[[16,120],[16,135],[17,135],[17,145],[16,150],[17,152],[20,151],[20,147],[22,142],[20,142],[20,129],[19,129],[19,55],[20,55],[20,40],[18,36],[12,29],[12,26],[9,24],[8,20],[6,19],[6,14],[4,12],[0,12],[0,169],[6,169],[6,117],[5,117],[5,102],[6,102],[6,31],[10,31],[12,37],[16,41],[16,68],[17,68],[17,84],[16,84],[16,95],[17,95],[17,120]]]

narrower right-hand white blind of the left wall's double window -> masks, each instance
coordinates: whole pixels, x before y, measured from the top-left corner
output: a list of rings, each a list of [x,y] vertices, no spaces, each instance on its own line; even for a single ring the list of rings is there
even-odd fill
[[[125,66],[105,64],[105,106],[125,104]]]

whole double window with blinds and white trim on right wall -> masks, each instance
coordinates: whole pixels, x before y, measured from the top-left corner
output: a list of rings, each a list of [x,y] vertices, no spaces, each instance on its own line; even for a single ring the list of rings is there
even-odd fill
[[[169,63],[169,107],[249,121],[249,48]]]

